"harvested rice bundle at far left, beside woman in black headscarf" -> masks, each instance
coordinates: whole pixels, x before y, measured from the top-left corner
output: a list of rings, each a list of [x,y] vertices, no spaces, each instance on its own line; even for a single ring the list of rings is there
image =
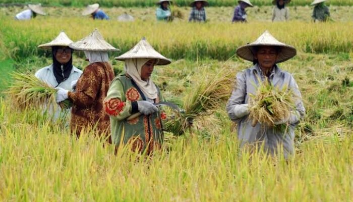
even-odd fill
[[[13,73],[14,79],[10,88],[6,91],[10,95],[14,104],[21,108],[38,108],[42,105],[56,106],[56,90],[47,83],[39,80],[30,73]],[[71,102],[65,100],[60,104],[61,108],[70,108]]]

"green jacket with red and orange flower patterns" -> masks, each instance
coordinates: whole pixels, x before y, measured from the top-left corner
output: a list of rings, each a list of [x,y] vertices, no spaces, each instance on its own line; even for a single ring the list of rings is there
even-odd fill
[[[163,100],[159,88],[155,103]],[[148,116],[141,115],[127,121],[131,115],[138,113],[138,100],[146,100],[136,83],[125,75],[116,77],[110,84],[104,110],[110,117],[111,139],[118,146],[131,144],[132,149],[151,154],[155,147],[160,148],[163,142],[163,131],[160,113]]]

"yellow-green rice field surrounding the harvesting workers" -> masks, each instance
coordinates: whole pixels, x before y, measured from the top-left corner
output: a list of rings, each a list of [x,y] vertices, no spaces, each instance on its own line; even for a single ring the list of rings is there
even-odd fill
[[[114,155],[113,146],[103,146],[90,132],[78,140],[70,134],[67,120],[53,121],[37,109],[18,109],[11,97],[1,93],[0,201],[353,200],[351,18],[337,14],[339,20],[330,23],[298,19],[270,23],[265,8],[259,8],[259,16],[248,14],[247,24],[217,21],[220,14],[214,8],[206,24],[156,23],[154,9],[146,14],[152,17],[133,23],[79,16],[18,22],[13,15],[19,8],[0,8],[1,92],[13,83],[11,73],[34,73],[51,63],[50,53],[37,45],[61,30],[78,40],[98,28],[123,53],[145,36],[171,58],[170,65],[155,67],[152,79],[167,100],[183,106],[185,99],[193,98],[188,95],[198,83],[209,83],[210,78],[201,78],[222,70],[233,79],[250,67],[252,63],[234,56],[235,50],[269,30],[298,49],[298,55],[280,68],[296,79],[306,108],[306,117],[295,131],[296,154],[289,161],[239,149],[236,127],[226,115],[223,99],[211,115],[196,118],[185,135],[167,133],[163,150],[149,159],[126,147]],[[230,16],[232,8],[224,9]],[[119,11],[128,10],[144,12]],[[108,10],[118,15],[116,11]],[[63,12],[69,13],[69,8]],[[124,67],[112,60],[115,56],[110,55],[110,63],[117,75]],[[74,65],[83,69],[87,64],[76,52]]]

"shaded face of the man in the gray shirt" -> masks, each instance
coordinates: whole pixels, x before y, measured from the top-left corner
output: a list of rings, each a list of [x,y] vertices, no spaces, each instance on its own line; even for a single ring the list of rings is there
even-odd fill
[[[260,46],[255,59],[258,60],[260,67],[265,69],[271,69],[276,63],[278,51],[273,46]]]

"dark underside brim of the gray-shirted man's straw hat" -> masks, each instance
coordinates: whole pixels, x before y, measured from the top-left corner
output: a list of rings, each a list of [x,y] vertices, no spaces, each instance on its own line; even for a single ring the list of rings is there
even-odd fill
[[[280,52],[278,53],[276,63],[282,63],[287,61],[297,55],[296,48],[290,45],[280,45],[280,44],[248,44],[241,46],[237,49],[237,55],[244,60],[254,62],[254,54],[253,54],[253,47],[255,46],[275,46],[280,47]]]

